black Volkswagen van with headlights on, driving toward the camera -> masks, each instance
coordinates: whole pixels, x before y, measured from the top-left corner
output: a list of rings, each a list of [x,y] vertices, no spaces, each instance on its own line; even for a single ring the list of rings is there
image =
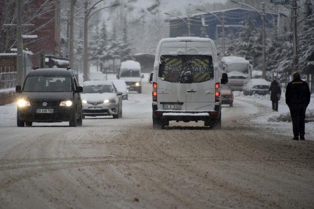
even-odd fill
[[[36,69],[27,74],[18,99],[17,126],[32,122],[69,121],[70,126],[82,125],[82,102],[78,79],[73,70]]]

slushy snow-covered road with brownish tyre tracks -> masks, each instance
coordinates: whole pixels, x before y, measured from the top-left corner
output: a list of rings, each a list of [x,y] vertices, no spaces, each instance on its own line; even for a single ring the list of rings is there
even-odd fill
[[[291,124],[258,123],[265,106],[239,97],[221,131],[154,130],[150,91],[121,119],[75,128],[18,128],[14,105],[0,107],[0,208],[313,207],[314,141],[292,141]]]

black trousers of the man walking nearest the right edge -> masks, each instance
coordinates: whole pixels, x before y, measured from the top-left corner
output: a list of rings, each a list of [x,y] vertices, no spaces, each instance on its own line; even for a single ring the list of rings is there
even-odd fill
[[[305,111],[306,107],[289,107],[292,127],[293,127],[293,135],[294,137],[304,136],[305,135]]]

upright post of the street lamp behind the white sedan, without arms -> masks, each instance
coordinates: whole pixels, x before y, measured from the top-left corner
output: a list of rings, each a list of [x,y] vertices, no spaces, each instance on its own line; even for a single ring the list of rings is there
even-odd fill
[[[88,81],[88,1],[84,0],[84,44],[83,44],[83,74],[84,81]]]

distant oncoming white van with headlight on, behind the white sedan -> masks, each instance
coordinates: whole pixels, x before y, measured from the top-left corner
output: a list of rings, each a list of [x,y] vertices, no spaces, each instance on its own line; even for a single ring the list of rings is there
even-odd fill
[[[118,79],[122,79],[126,82],[130,91],[136,91],[142,93],[142,78],[141,65],[133,60],[127,60],[120,65]]]

